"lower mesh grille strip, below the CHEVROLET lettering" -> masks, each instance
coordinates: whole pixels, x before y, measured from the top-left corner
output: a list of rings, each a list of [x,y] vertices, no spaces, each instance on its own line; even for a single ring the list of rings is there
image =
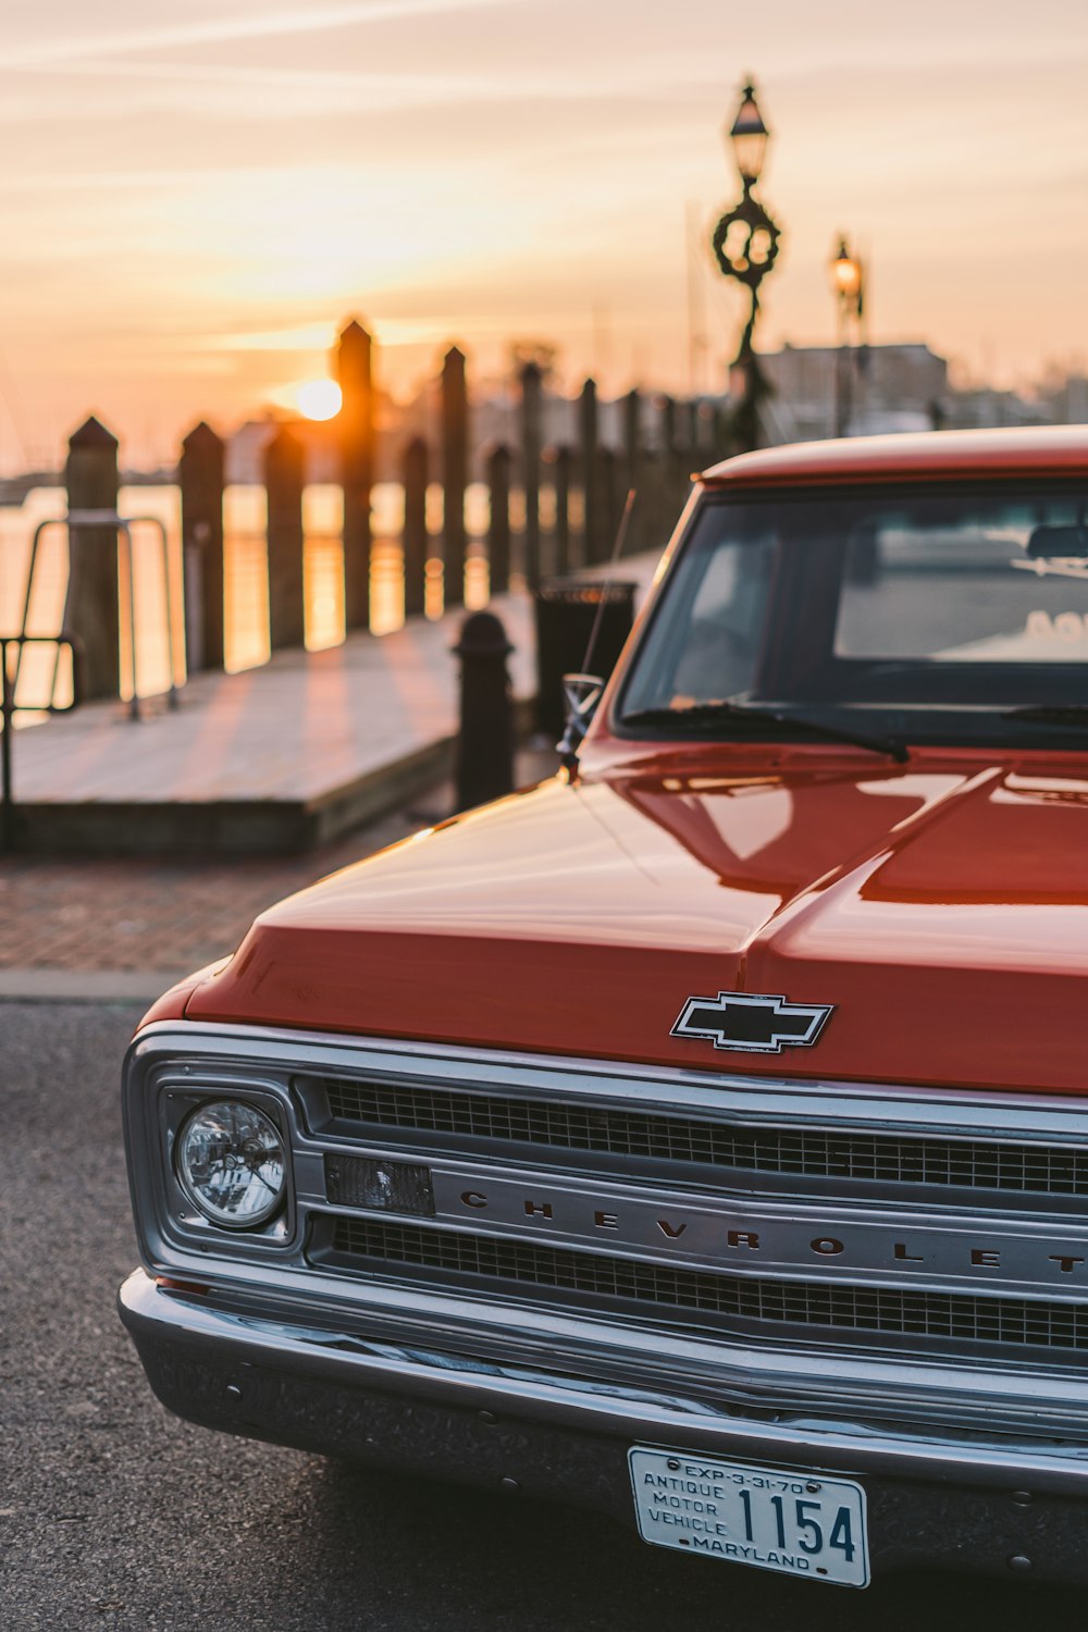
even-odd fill
[[[961,1343],[1088,1350],[1088,1304],[742,1278],[349,1217],[331,1221],[329,1245],[318,1257],[370,1273],[375,1266],[416,1266],[439,1271],[442,1278],[473,1276],[506,1281],[511,1288],[612,1297],[643,1312],[652,1306],[666,1317],[680,1317],[685,1325],[721,1327],[723,1320],[737,1319]]]

